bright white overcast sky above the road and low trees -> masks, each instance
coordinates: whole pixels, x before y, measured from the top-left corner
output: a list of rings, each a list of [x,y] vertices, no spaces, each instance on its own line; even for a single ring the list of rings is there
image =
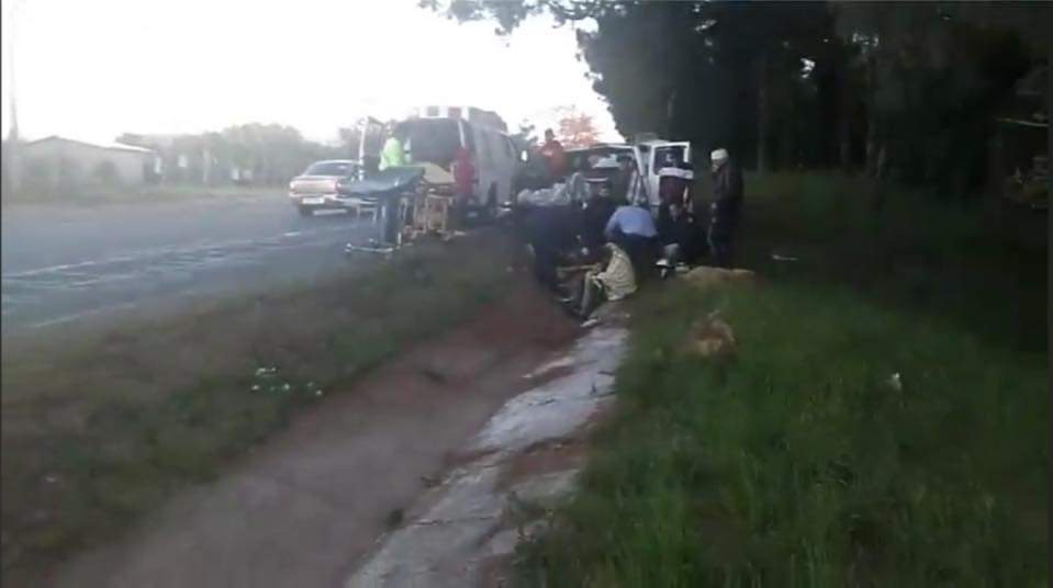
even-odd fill
[[[418,104],[497,111],[550,125],[574,105],[615,139],[584,78],[570,27],[527,22],[511,37],[416,0],[2,0],[3,134],[11,33],[19,127],[112,140],[123,132],[198,133],[247,122],[316,140],[362,114]],[[14,18],[12,8],[18,5]]]

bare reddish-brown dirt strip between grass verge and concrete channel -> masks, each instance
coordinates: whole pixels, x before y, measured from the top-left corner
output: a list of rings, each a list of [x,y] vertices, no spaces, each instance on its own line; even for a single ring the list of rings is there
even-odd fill
[[[576,327],[530,285],[300,414],[53,586],[335,586]]]

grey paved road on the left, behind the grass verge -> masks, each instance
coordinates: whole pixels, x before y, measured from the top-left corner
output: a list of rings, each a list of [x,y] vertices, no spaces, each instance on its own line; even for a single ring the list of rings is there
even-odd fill
[[[344,244],[369,230],[339,213],[303,218],[281,194],[7,210],[3,333],[315,279],[347,268]]]

